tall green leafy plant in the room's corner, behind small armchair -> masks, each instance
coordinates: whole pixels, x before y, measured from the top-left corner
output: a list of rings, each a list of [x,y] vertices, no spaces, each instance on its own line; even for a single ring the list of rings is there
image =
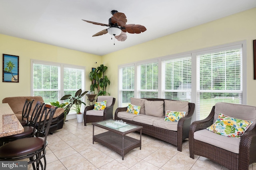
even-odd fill
[[[106,67],[102,64],[89,73],[90,80],[95,81],[95,83],[92,83],[90,90],[94,91],[94,89],[97,89],[98,96],[109,95],[109,93],[106,92],[106,87],[108,85],[110,85],[110,80],[104,74],[107,69],[108,69],[108,67]]]

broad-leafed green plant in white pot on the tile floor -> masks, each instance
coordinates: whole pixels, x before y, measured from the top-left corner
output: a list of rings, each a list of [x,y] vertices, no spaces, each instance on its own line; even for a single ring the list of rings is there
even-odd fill
[[[71,110],[74,110],[76,112],[76,118],[78,123],[81,123],[83,121],[83,114],[81,113],[81,106],[82,104],[86,105],[83,102],[84,95],[88,93],[88,91],[84,91],[82,93],[82,89],[79,89],[76,91],[75,96],[72,97],[72,95],[64,95],[60,100],[67,100],[69,99],[69,104],[66,106],[66,108],[69,108]]]

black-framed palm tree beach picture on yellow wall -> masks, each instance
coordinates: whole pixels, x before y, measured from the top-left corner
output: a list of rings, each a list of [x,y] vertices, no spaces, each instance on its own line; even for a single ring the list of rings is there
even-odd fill
[[[3,82],[19,83],[19,56],[3,54]]]

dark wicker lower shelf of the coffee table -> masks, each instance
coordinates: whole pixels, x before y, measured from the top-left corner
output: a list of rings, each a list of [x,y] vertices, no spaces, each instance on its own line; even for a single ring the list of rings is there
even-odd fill
[[[140,147],[141,149],[141,140],[137,140],[125,135],[122,136],[111,131],[94,135],[92,141],[93,144],[94,142],[98,142],[114,150],[122,156],[122,160],[124,160],[124,155],[134,148]]]

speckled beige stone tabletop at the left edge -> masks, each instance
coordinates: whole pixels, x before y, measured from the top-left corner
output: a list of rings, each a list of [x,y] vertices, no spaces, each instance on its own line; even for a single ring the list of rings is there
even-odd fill
[[[24,132],[20,121],[8,103],[0,103],[0,137]]]

